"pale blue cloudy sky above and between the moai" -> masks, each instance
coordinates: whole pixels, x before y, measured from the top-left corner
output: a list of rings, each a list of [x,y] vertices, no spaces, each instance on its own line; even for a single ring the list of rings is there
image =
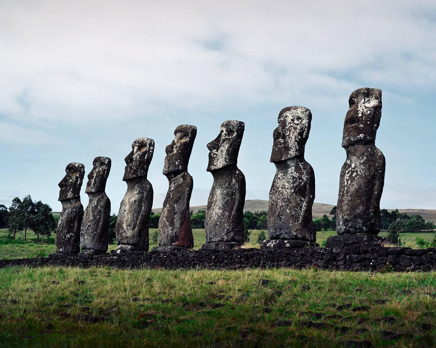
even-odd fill
[[[225,120],[245,122],[246,199],[267,200],[272,132],[293,105],[313,115],[305,158],[315,202],[336,204],[348,97],[360,87],[382,90],[381,207],[436,209],[434,0],[0,0],[0,204],[30,194],[61,211],[65,166],[88,174],[107,156],[117,213],[124,157],[149,137],[153,207],[162,207],[165,146],[180,124],[198,128],[191,206],[206,204],[206,144]]]

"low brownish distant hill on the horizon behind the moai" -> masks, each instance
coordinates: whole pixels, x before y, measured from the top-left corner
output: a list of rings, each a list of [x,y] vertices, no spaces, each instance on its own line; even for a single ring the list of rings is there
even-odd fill
[[[314,219],[322,218],[324,214],[329,216],[331,208],[334,206],[331,204],[323,203],[313,203],[312,207],[312,217]],[[199,209],[206,209],[205,205],[198,205],[196,207],[191,207],[191,209],[196,213]],[[153,208],[155,213],[160,213],[162,208]],[[268,201],[262,201],[261,199],[249,199],[245,201],[244,211],[257,211],[257,210],[268,210]],[[388,209],[392,211],[395,209]],[[435,209],[399,209],[400,213],[407,213],[409,215],[419,214],[424,220],[435,220],[436,221],[436,210]]]

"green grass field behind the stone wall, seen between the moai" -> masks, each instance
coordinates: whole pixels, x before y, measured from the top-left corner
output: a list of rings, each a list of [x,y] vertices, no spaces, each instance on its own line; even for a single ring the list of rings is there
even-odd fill
[[[150,241],[153,233],[157,231],[157,228],[150,228]],[[259,236],[259,230],[250,231],[250,242],[246,243],[246,248],[259,248],[259,244],[255,243]],[[266,232],[265,232],[266,233]],[[205,243],[204,229],[194,229],[194,249],[199,249],[202,244]],[[336,235],[335,231],[321,231],[317,232],[317,242],[321,244],[330,235]],[[385,236],[386,233],[381,232],[380,236]],[[431,242],[433,240],[434,233],[402,233],[400,234],[401,240],[405,242],[405,246],[411,248],[417,248],[416,237],[422,238],[425,241]],[[6,239],[7,230],[0,230],[0,260],[11,258],[34,258],[45,257],[48,254],[55,252],[54,237],[49,240],[49,244],[42,244],[36,242],[36,236],[32,231],[27,233],[27,241],[10,241]],[[17,235],[17,239],[22,238]],[[9,243],[9,244],[5,244]],[[157,244],[150,244],[149,250],[157,246]],[[108,251],[116,249],[116,244],[109,244]]]

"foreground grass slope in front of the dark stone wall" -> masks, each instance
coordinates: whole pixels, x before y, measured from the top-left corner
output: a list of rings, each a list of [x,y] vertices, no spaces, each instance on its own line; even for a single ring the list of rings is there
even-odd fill
[[[5,268],[0,345],[431,347],[435,291],[434,273]]]

